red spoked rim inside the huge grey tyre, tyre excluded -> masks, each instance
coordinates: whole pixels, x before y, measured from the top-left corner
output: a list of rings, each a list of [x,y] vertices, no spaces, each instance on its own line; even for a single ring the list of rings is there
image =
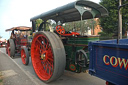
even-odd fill
[[[34,37],[31,46],[34,70],[41,80],[49,80],[53,74],[54,57],[49,40],[42,34]]]

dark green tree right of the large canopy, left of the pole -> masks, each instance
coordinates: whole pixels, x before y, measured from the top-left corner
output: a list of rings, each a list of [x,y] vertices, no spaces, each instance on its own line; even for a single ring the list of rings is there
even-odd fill
[[[102,31],[106,34],[117,33],[118,31],[118,3],[116,0],[101,0],[103,5],[109,12],[109,16],[100,18]]]

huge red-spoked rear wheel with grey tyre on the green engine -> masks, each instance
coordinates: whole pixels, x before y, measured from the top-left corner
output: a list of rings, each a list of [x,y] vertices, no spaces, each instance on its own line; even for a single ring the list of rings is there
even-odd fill
[[[52,32],[38,32],[31,45],[31,60],[37,76],[44,82],[59,78],[65,69],[66,56],[60,38]]]

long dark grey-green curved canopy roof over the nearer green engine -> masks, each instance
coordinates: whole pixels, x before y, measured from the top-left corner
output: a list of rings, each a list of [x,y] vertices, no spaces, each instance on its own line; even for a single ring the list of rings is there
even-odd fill
[[[35,16],[30,21],[53,19],[55,21],[71,22],[81,20],[81,18],[85,20],[106,15],[108,15],[108,11],[103,6],[88,0],[78,0]]]

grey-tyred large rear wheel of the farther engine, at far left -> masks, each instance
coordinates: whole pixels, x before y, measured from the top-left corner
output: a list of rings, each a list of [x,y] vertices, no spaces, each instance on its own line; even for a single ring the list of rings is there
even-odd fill
[[[10,57],[13,58],[15,56],[15,44],[13,39],[8,40],[6,51]]]

